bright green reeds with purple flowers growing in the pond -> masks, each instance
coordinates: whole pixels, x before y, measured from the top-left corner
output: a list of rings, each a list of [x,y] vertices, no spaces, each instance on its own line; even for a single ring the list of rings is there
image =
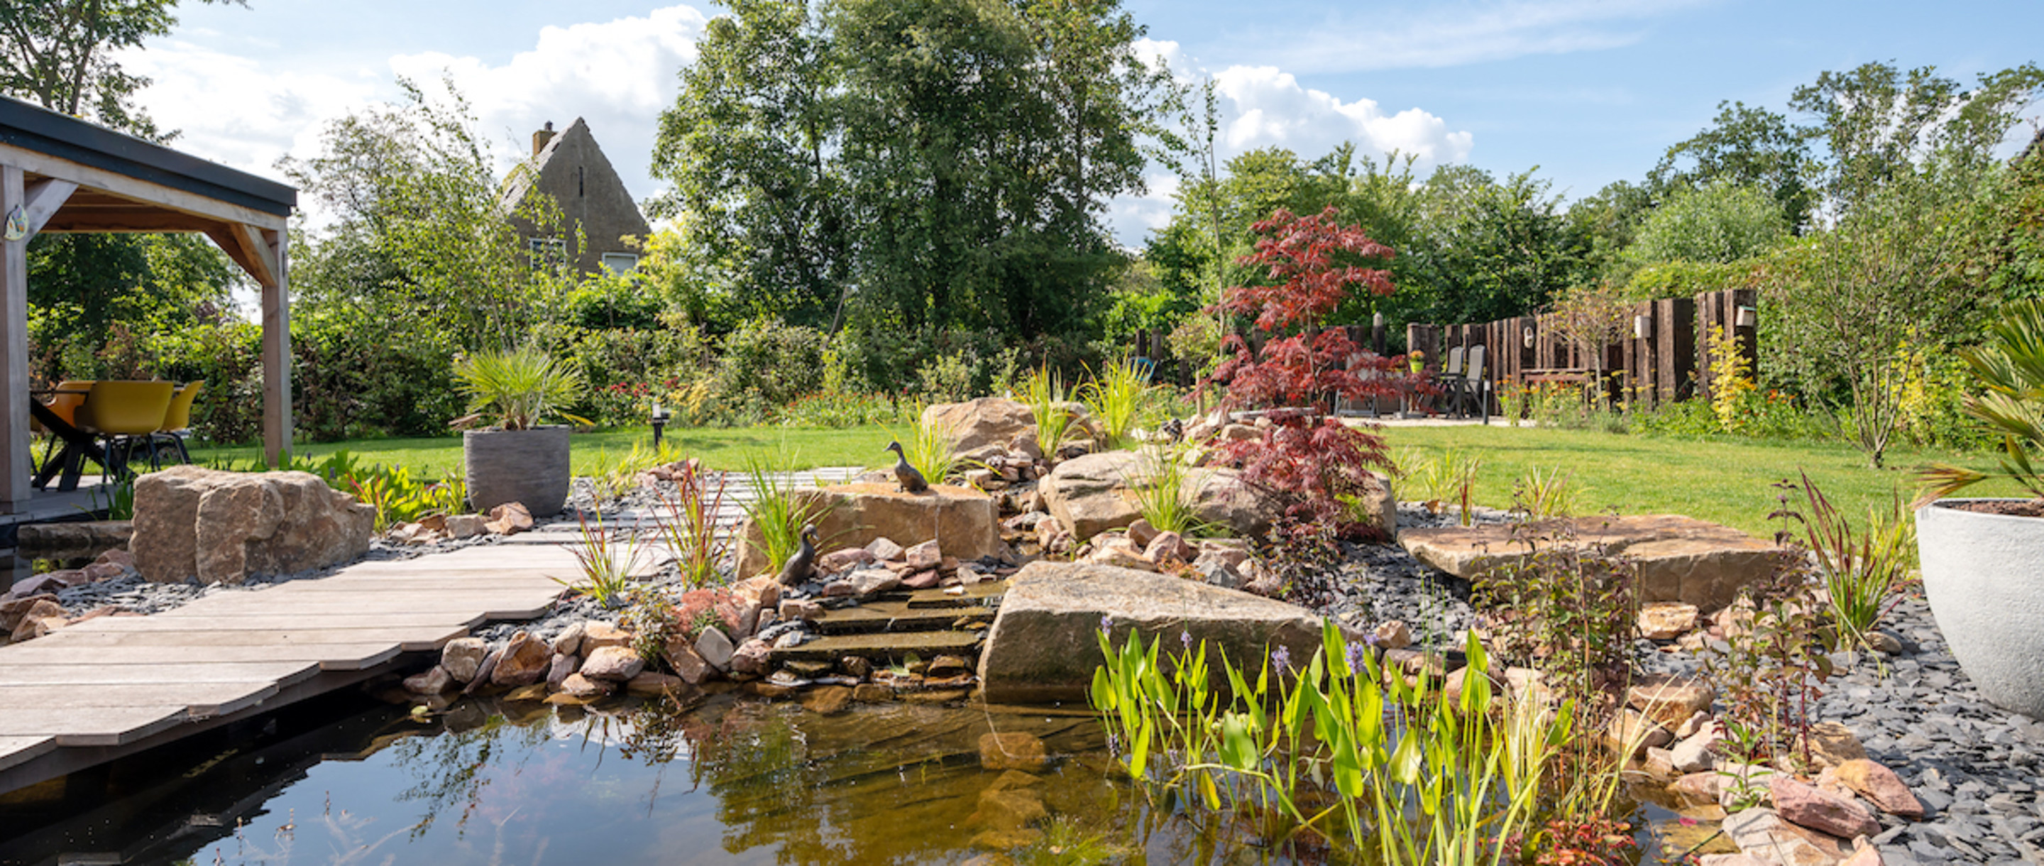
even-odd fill
[[[1429,674],[1388,672],[1333,623],[1310,660],[1294,668],[1280,647],[1253,680],[1226,654],[1210,668],[1190,635],[1163,664],[1163,637],[1145,645],[1130,633],[1116,647],[1112,623],[1102,625],[1091,703],[1120,766],[1194,809],[1261,817],[1265,841],[1341,835],[1339,819],[1382,864],[1506,862],[1574,733],[1572,707],[1547,713],[1523,696],[1494,713],[1474,635],[1461,694],[1449,699]]]

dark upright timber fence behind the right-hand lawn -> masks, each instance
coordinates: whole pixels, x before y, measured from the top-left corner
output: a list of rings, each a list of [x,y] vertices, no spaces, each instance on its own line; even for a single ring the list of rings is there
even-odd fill
[[[1711,396],[1711,329],[1723,327],[1748,370],[1758,353],[1758,312],[1754,290],[1705,292],[1694,298],[1641,300],[1631,304],[1625,337],[1590,347],[1560,337],[1551,315],[1500,319],[1482,325],[1406,325],[1406,347],[1427,353],[1439,368],[1447,351],[1484,347],[1484,378],[1492,392],[1506,384],[1588,382],[1602,370],[1605,392],[1635,406]]]

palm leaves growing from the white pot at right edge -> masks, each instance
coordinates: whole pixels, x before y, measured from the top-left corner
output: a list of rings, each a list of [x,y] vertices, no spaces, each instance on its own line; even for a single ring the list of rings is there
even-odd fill
[[[2030,453],[2044,447],[2044,300],[2017,300],[1989,327],[1987,343],[1962,351],[1987,392],[1966,398],[1966,415],[2001,433],[2001,466],[1975,472],[1960,466],[1932,466],[1921,472],[1923,502],[1950,496],[1989,478],[2007,478],[2044,498],[2044,476]]]

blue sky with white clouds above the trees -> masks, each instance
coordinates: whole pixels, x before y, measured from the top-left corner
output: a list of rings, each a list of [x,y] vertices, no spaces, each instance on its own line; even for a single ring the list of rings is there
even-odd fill
[[[2044,2],[1889,0],[1122,0],[1143,49],[1222,94],[1222,157],[1353,141],[1416,153],[1419,170],[1537,167],[1564,198],[1645,176],[1709,127],[1721,100],[1788,110],[1825,69],[1936,65],[1970,82],[2044,61]],[[178,147],[260,176],[319,151],[325,125],[399,100],[397,80],[452,78],[509,167],[531,131],[589,121],[636,198],[654,125],[703,25],[724,8],[578,0],[247,0],[192,4],[123,55],[153,78],[141,106]],[[2030,108],[2032,123],[2044,106]],[[2028,137],[2028,135],[2026,135]],[[1110,204],[1130,247],[1169,219],[1173,178]],[[315,202],[303,202],[317,210]]]

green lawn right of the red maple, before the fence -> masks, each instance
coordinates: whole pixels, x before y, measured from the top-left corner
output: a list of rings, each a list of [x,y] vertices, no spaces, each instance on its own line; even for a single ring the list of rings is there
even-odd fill
[[[1915,498],[1913,470],[1932,462],[1987,468],[1987,453],[1891,449],[1889,470],[1872,470],[1844,443],[1690,441],[1598,431],[1531,427],[1386,427],[1392,449],[1412,447],[1421,460],[1457,449],[1484,460],[1476,478],[1476,504],[1508,509],[1513,482],[1535,468],[1564,468],[1572,478],[1576,513],[1688,515],[1768,537],[1776,523],[1774,482],[1797,470],[1860,525],[1868,507],[1887,507],[1901,490]],[[2024,496],[2015,484],[1991,482],[1968,496]],[[1398,490],[1398,498],[1412,498]]]

